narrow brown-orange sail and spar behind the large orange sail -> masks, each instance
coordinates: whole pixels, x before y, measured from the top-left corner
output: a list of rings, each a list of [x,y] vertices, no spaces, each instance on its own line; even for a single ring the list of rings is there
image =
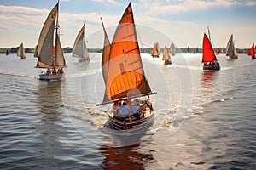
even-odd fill
[[[101,20],[102,20],[102,18],[101,18]],[[108,74],[108,61],[110,59],[109,56],[110,56],[111,45],[110,45],[110,42],[108,39],[107,31],[105,30],[105,27],[103,25],[103,21],[102,21],[102,27],[104,30],[104,47],[102,50],[102,76],[103,76],[104,82],[106,83],[107,74]]]

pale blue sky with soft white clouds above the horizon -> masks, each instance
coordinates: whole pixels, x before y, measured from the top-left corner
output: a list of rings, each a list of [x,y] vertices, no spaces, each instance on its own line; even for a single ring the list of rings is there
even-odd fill
[[[231,34],[236,48],[256,42],[255,0],[60,0],[61,45],[73,47],[79,29],[86,24],[87,48],[102,48],[100,17],[110,41],[131,2],[141,48],[154,42],[177,48],[201,48],[210,27],[213,48],[225,47]],[[49,11],[57,0],[0,0],[0,48],[34,48]],[[208,34],[207,34],[208,35]]]

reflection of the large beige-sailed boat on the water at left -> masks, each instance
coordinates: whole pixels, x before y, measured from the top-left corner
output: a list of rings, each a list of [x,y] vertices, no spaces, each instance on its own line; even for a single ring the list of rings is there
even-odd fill
[[[44,156],[54,156],[61,149],[60,135],[63,128],[58,122],[63,118],[61,100],[61,81],[40,82],[38,84],[38,112],[41,122],[38,125],[39,139],[42,148],[39,152]]]

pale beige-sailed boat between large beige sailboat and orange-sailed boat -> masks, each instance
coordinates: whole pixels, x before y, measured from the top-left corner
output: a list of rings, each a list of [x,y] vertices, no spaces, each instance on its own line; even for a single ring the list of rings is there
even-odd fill
[[[85,24],[79,31],[73,44],[73,57],[80,58],[79,62],[89,61],[89,54],[85,43]]]

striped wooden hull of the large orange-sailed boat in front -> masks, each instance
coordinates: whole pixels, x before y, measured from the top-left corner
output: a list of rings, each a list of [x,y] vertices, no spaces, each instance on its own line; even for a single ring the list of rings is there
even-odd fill
[[[125,130],[127,132],[145,129],[146,127],[152,125],[154,120],[154,112],[151,112],[150,116],[148,117],[133,121],[129,121],[129,119],[125,119],[125,121],[119,121],[113,118],[113,113],[109,113],[108,116],[111,127],[117,130]]]

